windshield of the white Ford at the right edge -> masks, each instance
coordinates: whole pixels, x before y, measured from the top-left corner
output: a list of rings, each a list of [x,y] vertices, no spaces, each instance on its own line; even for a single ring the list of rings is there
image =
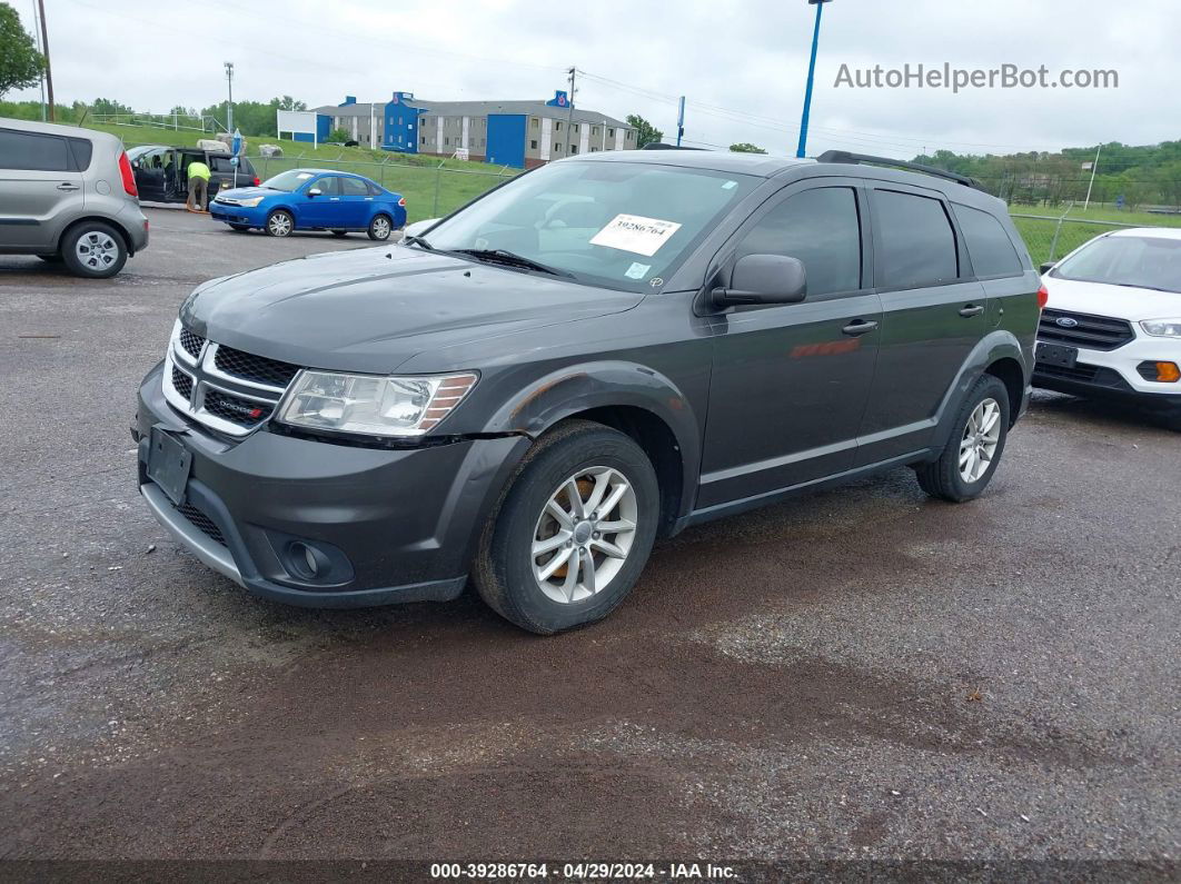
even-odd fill
[[[1181,240],[1104,236],[1065,258],[1050,275],[1181,292]]]

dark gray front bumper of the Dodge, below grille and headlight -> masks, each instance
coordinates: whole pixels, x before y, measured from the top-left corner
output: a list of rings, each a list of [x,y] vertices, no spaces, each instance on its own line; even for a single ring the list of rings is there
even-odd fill
[[[252,592],[306,607],[445,601],[463,590],[478,532],[526,437],[413,448],[359,447],[261,428],[205,432],[168,405],[161,367],[139,388],[139,489],[152,515],[198,559]],[[152,427],[193,457],[175,506],[146,476]],[[301,572],[296,549],[331,567]]]

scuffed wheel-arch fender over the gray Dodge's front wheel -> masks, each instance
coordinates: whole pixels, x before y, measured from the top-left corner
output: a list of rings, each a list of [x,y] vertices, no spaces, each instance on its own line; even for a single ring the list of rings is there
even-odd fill
[[[609,407],[640,408],[668,427],[680,450],[681,509],[691,505],[700,469],[702,425],[678,386],[647,366],[625,361],[566,366],[539,378],[504,402],[485,430],[536,438],[560,420],[592,408]]]

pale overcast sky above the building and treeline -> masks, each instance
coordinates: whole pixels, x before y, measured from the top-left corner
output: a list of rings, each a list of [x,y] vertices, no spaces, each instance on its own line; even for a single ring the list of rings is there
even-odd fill
[[[9,0],[32,30],[34,0]],[[392,91],[435,100],[549,98],[572,64],[575,103],[640,113],[666,140],[676,96],[686,138],[794,152],[815,7],[805,0],[45,0],[59,102],[136,110],[292,94],[309,106]],[[170,14],[169,9],[177,12]],[[197,33],[190,20],[204,19]],[[1056,150],[1181,138],[1177,0],[833,0],[824,7],[808,152],[903,157]],[[1118,89],[848,89],[850,68],[992,68],[1006,63],[1118,72]],[[7,98],[35,98],[38,91]]]

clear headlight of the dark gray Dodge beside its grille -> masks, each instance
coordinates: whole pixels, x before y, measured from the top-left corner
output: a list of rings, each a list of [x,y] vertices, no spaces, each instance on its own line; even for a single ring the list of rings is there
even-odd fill
[[[366,436],[423,436],[475,386],[478,375],[337,374],[305,371],[288,391],[279,420],[294,426]]]

